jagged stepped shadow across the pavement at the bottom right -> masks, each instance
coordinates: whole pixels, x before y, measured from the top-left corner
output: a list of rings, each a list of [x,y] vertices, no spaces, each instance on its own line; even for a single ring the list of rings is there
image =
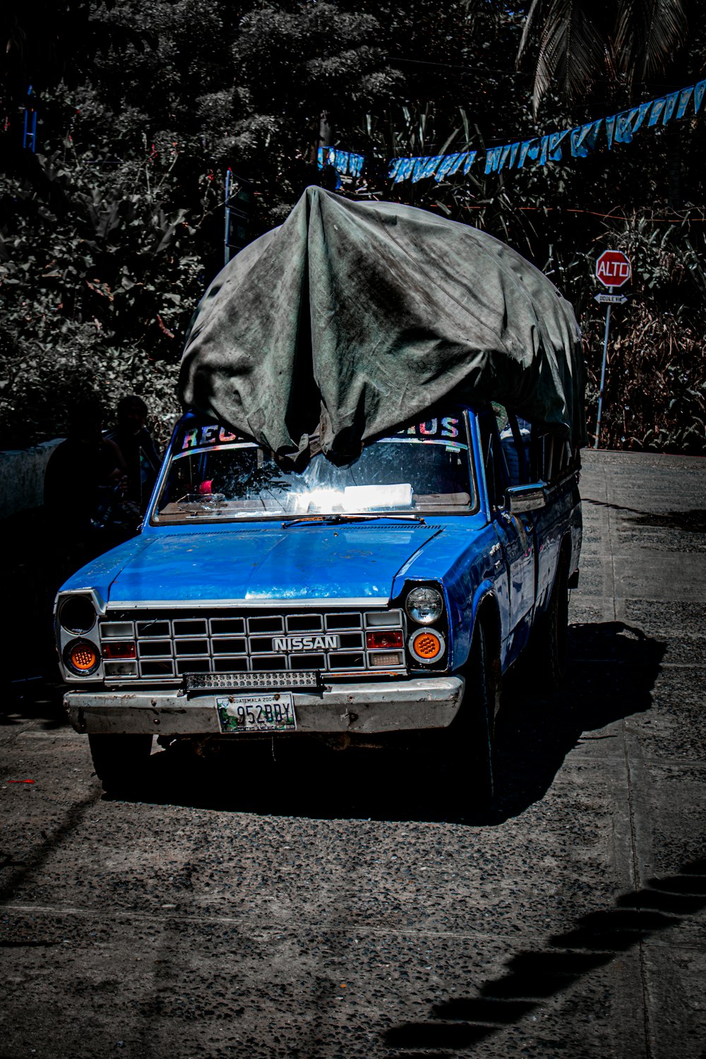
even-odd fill
[[[489,980],[475,997],[436,1004],[427,1021],[393,1026],[383,1034],[396,1059],[430,1059],[430,1048],[453,1052],[520,1022],[549,997],[568,989],[644,938],[676,927],[685,915],[706,908],[706,858],[683,864],[677,875],[650,879],[620,895],[615,907],[576,920],[574,929],[547,938],[541,951],[523,951],[506,973]]]

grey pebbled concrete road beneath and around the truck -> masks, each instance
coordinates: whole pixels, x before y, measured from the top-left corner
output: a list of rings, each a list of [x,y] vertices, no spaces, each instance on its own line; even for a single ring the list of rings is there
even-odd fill
[[[169,751],[162,804],[107,801],[15,702],[0,1057],[704,1057],[706,462],[589,452],[582,493],[568,679],[508,688],[491,819],[391,755]]]

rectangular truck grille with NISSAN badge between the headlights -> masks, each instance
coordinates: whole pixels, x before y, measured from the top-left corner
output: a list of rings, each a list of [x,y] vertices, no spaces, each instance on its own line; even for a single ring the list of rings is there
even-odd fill
[[[405,669],[401,610],[122,611],[109,612],[99,633],[109,681],[175,682],[198,672]],[[393,646],[380,646],[387,638]]]

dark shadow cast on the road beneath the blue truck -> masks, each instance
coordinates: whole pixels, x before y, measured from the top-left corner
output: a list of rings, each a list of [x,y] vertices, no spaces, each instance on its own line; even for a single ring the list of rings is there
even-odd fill
[[[202,757],[176,743],[150,758],[147,797],[267,815],[497,825],[543,797],[586,733],[617,740],[619,732],[602,730],[649,710],[664,651],[619,622],[573,625],[561,692],[528,693],[525,674],[508,675],[496,725],[496,797],[483,811],[470,764],[468,797],[450,804],[442,770],[433,768],[423,742],[340,752],[308,739],[257,740],[207,744]]]

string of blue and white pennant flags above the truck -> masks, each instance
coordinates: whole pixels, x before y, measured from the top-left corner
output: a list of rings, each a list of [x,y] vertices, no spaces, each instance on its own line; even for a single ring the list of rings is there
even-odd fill
[[[589,151],[602,146],[602,136],[605,138],[609,150],[614,143],[631,143],[635,132],[644,125],[653,128],[659,124],[667,125],[672,118],[677,121],[684,118],[689,110],[689,104],[693,105],[693,113],[698,114],[705,93],[706,80],[700,80],[695,85],[688,85],[658,100],[639,103],[628,110],[621,110],[610,118],[599,118],[586,125],[578,125],[573,129],[559,129],[546,136],[518,140],[500,147],[488,147],[485,151],[485,172],[488,174],[501,173],[505,168],[522,169],[529,162],[538,165],[560,162],[562,150],[565,149],[571,149],[572,158],[585,158]],[[399,184],[403,180],[416,183],[427,177],[434,177],[438,182],[446,177],[467,176],[477,155],[476,150],[465,150],[453,155],[393,158],[388,163],[387,178]],[[361,177],[365,162],[364,155],[339,150],[338,147],[319,148],[319,168],[323,169],[330,165],[341,176]]]

